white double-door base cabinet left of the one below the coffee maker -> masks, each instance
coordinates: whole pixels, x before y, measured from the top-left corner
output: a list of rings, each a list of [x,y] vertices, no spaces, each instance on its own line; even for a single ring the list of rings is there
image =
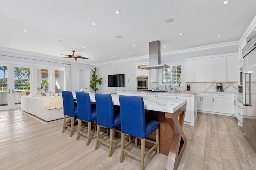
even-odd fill
[[[197,110],[212,111],[212,94],[198,93],[196,96]]]

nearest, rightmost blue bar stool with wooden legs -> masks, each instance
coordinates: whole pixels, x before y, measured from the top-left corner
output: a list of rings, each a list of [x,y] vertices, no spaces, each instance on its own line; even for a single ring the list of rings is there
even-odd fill
[[[156,149],[159,154],[159,123],[155,120],[146,120],[143,98],[140,96],[119,96],[120,115],[121,115],[121,156],[120,162],[124,160],[124,152],[140,158],[140,169],[144,168],[144,158],[150,152]],[[150,133],[156,131],[156,141],[145,139]],[[125,134],[140,138],[141,153],[136,154],[126,148],[134,141],[128,144],[125,142]],[[136,139],[137,140],[137,139]],[[154,146],[145,153],[145,141],[153,143]]]

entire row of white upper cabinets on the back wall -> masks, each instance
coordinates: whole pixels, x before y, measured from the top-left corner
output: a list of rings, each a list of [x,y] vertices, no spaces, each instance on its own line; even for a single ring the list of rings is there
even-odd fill
[[[232,54],[186,59],[186,82],[238,82],[238,55]]]

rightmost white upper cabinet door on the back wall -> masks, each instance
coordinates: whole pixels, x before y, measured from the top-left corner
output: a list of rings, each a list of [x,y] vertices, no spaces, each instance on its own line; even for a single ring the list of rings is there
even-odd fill
[[[239,76],[238,55],[227,56],[227,82],[237,82]]]

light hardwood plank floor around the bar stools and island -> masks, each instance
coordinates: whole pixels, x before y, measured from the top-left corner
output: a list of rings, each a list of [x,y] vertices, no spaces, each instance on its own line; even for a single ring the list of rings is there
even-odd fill
[[[137,170],[140,161],[126,155],[120,160],[120,144],[108,157],[108,147],[95,147],[95,135],[88,146],[86,138],[76,141],[76,132],[62,131],[63,121],[43,124],[18,109],[0,111],[0,170]],[[254,170],[256,151],[235,117],[198,113],[194,127],[184,125],[188,144],[178,170]],[[132,148],[140,152],[135,147]],[[151,153],[146,170],[163,170],[167,156]]]

